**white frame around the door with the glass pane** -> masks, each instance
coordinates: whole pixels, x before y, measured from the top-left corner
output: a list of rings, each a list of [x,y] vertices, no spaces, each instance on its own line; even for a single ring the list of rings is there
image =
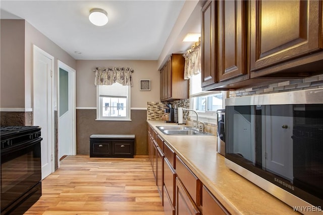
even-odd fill
[[[76,155],[76,70],[61,60],[57,60],[57,117],[58,117],[58,140],[59,140],[59,127],[60,127],[60,68],[66,70],[69,74],[69,90],[71,89],[71,103],[72,103],[72,155]],[[71,87],[71,88],[70,88]],[[58,141],[58,150],[60,150],[60,142]],[[60,159],[60,158],[58,158]],[[60,162],[58,162],[60,167]]]

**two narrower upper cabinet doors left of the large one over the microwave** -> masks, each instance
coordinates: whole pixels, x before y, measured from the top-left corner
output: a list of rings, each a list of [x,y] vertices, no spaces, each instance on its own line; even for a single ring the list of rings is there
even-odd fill
[[[201,11],[202,87],[249,79],[247,2],[208,1]],[[238,79],[235,79],[238,78]]]

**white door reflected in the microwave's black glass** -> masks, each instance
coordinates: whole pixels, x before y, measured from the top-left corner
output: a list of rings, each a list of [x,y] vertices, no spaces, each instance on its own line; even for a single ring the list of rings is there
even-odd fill
[[[267,106],[265,126],[265,168],[293,180],[292,105]],[[270,107],[270,108],[269,108]]]

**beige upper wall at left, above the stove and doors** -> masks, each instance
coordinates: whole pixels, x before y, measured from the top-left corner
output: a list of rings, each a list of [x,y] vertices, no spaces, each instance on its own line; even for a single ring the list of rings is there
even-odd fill
[[[73,57],[25,20],[1,20],[1,108],[32,108],[33,44],[55,57],[55,92],[57,60],[76,68]]]

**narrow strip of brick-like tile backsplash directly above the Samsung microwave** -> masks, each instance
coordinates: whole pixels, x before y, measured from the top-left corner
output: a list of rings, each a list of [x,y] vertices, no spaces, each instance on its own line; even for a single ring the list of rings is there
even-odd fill
[[[230,91],[229,97],[250,96],[257,94],[270,94],[288,91],[309,90],[323,88],[323,75],[312,76],[305,79],[287,80],[262,87]]]

